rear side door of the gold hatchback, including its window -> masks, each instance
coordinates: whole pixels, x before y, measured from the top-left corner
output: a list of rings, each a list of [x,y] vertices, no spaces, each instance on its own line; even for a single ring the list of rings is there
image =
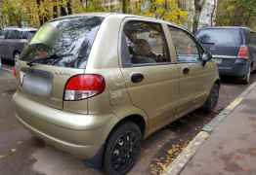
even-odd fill
[[[122,29],[122,68],[134,106],[154,131],[175,119],[179,68],[172,64],[160,23],[129,18]]]

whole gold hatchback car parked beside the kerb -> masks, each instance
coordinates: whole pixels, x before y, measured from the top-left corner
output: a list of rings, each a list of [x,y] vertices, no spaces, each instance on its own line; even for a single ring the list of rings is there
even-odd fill
[[[220,88],[211,55],[187,30],[120,14],[45,23],[15,71],[19,122],[110,175],[127,173],[157,129],[212,111]]]

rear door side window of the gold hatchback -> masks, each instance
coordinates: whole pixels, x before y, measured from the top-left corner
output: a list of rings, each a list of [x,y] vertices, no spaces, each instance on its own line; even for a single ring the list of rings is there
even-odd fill
[[[125,52],[125,61],[129,64],[170,62],[164,33],[158,23],[129,21],[124,26],[122,40],[122,57]]]

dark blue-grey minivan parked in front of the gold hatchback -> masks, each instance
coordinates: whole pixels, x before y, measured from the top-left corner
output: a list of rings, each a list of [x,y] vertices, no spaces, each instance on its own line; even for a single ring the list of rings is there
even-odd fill
[[[220,75],[250,82],[250,74],[256,69],[255,32],[247,27],[206,27],[196,37],[213,54]]]

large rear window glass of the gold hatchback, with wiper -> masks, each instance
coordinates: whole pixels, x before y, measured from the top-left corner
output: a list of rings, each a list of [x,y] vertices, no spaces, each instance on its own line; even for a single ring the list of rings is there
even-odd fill
[[[104,18],[63,18],[44,24],[21,54],[21,60],[68,55],[41,63],[85,68],[95,37]],[[53,56],[54,58],[54,56]]]

